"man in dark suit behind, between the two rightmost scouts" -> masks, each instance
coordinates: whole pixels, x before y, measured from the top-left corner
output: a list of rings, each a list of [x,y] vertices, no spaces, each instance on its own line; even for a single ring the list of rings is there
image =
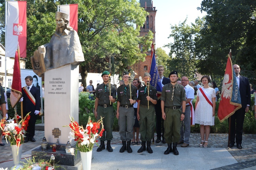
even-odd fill
[[[166,85],[168,83],[171,83],[170,79],[163,77],[163,72],[165,72],[165,68],[163,65],[158,65],[157,70],[159,73],[159,78],[163,85]],[[165,142],[165,138],[163,137],[165,133],[165,129],[163,128],[163,119],[162,119],[162,110],[161,110],[161,100],[157,100],[157,104],[155,104],[155,112],[156,112],[156,134],[157,134],[157,139],[156,142],[159,143],[161,141],[161,136],[162,136],[162,143]],[[162,132],[162,134],[161,134]]]

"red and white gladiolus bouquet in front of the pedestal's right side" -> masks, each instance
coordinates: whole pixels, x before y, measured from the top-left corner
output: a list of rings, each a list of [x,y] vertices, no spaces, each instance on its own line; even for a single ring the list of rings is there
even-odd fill
[[[76,141],[76,148],[69,149],[70,153],[74,155],[77,153],[77,150],[80,152],[90,152],[93,150],[93,146],[95,142],[98,142],[97,138],[102,136],[104,131],[102,118],[97,122],[92,122],[91,117],[89,116],[88,123],[86,127],[79,126],[79,124],[74,121],[74,119],[70,118],[71,123],[66,125],[66,127],[70,127],[71,132],[69,133],[70,143],[74,139]],[[99,132],[101,125],[101,130]],[[99,132],[99,133],[98,133]]]

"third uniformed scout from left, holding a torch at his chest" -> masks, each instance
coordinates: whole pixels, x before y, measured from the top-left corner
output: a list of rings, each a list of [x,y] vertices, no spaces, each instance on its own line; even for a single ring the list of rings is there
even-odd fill
[[[138,96],[138,109],[137,118],[140,124],[140,139],[141,148],[138,153],[147,150],[148,153],[153,153],[150,145],[151,139],[154,137],[154,127],[155,127],[155,108],[154,105],[157,103],[157,91],[156,88],[151,86],[147,89],[147,82],[151,81],[151,76],[149,73],[144,74],[145,85],[139,88]],[[148,96],[149,90],[149,96]],[[146,149],[147,141],[147,149]]]

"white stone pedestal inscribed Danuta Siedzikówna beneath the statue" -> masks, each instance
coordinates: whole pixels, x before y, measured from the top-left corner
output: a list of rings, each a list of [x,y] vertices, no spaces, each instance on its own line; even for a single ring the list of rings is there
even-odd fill
[[[67,143],[70,132],[69,115],[79,119],[79,66],[66,65],[44,73],[44,134],[48,143],[56,143],[52,130],[59,128],[59,143]],[[74,141],[72,141],[74,142]]]

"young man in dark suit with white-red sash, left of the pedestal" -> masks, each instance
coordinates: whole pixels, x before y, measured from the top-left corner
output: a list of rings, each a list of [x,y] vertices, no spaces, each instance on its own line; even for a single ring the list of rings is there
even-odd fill
[[[28,114],[30,112],[30,120],[28,121],[28,129],[24,143],[30,140],[35,142],[35,121],[37,120],[37,115],[40,111],[40,89],[33,86],[33,78],[29,75],[25,78],[26,86],[22,88],[22,99],[23,101],[23,114]]]

